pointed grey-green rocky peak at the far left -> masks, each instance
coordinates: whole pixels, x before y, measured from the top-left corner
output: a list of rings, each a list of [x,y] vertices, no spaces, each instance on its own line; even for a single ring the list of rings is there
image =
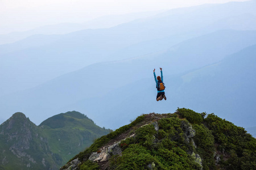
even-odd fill
[[[23,113],[15,113],[4,122],[1,125],[1,141],[7,143],[0,146],[0,152],[5,153],[4,158],[1,158],[2,165],[12,163],[14,167],[57,169],[56,163],[48,162],[49,155],[53,153],[50,151],[46,136],[38,132],[40,132],[39,128]],[[5,150],[5,148],[9,149]],[[50,158],[55,159],[53,156]]]

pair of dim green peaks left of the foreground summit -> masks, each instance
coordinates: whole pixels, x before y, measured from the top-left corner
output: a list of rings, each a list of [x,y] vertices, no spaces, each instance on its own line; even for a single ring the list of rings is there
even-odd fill
[[[57,114],[39,126],[23,113],[15,113],[0,129],[1,169],[59,169],[110,132],[75,111]]]

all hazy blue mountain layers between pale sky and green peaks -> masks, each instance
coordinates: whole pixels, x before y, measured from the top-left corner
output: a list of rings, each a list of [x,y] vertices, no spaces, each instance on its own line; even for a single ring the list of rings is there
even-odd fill
[[[38,124],[76,110],[118,128],[145,112],[186,107],[254,126],[255,8],[256,1],[179,8],[0,45],[1,116],[24,112]],[[158,67],[167,101],[156,103]]]

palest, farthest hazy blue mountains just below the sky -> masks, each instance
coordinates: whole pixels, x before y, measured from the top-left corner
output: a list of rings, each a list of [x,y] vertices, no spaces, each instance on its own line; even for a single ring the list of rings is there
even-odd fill
[[[0,52],[5,54],[0,57],[1,79],[6,82],[2,85],[5,87],[2,93],[34,87],[91,63],[137,57],[166,49],[191,37],[223,29],[221,24],[214,27],[216,30],[207,28],[222,19],[244,13],[255,15],[255,7],[256,3],[250,1],[180,8],[109,29],[69,33],[57,40],[53,36],[52,40],[44,41],[51,36],[45,38],[40,35],[31,41],[2,45]],[[241,19],[237,21],[244,23]],[[226,27],[233,28],[232,25]]]

